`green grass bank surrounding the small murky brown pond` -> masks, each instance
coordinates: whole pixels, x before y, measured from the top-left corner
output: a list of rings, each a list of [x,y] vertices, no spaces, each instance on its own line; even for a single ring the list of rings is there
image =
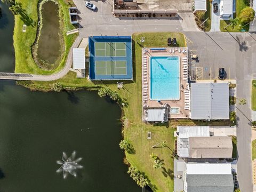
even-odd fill
[[[13,44],[15,50],[15,73],[30,73],[30,74],[52,74],[59,71],[64,65],[68,55],[68,51],[75,41],[77,34],[67,36],[68,30],[74,29],[75,27],[69,22],[68,4],[64,0],[59,0],[61,10],[63,11],[63,20],[65,21],[65,30],[63,35],[65,39],[65,54],[62,61],[57,69],[54,70],[42,70],[39,69],[31,54],[31,45],[34,43],[36,38],[37,30],[37,4],[38,0],[16,0],[21,3],[21,7],[24,10],[24,14],[15,15],[15,26],[13,34]],[[26,24],[26,33],[22,33],[22,26]]]

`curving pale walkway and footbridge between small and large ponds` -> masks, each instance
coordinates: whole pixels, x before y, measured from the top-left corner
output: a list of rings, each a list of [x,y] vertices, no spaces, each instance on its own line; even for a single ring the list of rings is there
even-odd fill
[[[52,75],[33,75],[33,74],[15,74],[15,73],[0,73],[0,79],[10,80],[31,80],[31,81],[54,81],[65,76],[73,63],[73,48],[76,48],[81,43],[82,38],[77,37],[73,45],[70,47],[68,58],[65,67],[56,74]]]

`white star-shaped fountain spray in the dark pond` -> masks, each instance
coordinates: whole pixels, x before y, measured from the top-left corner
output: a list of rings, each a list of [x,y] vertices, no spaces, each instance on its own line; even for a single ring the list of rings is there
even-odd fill
[[[66,179],[68,177],[68,173],[76,177],[76,171],[78,169],[82,169],[83,166],[79,165],[78,162],[82,160],[82,157],[76,159],[76,151],[73,151],[70,157],[67,156],[65,152],[62,153],[62,160],[58,160],[57,164],[61,165],[61,167],[56,171],[57,173],[62,172],[63,178]]]

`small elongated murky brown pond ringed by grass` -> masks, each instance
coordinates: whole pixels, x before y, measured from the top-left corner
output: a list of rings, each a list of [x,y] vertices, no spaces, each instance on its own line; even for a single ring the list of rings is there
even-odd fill
[[[59,6],[52,1],[42,5],[43,27],[39,36],[37,63],[44,69],[55,69],[61,60]]]

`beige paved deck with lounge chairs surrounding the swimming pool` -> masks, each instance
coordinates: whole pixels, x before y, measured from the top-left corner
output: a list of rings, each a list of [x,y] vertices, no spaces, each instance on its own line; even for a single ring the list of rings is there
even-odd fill
[[[142,105],[143,109],[154,108],[154,107],[163,107],[165,104],[173,107],[180,108],[180,114],[171,114],[169,118],[189,118],[189,110],[185,110],[185,92],[186,87],[188,86],[188,80],[183,79],[183,65],[182,58],[187,57],[187,48],[183,47],[166,47],[165,50],[151,50],[152,48],[143,48],[142,49]],[[175,52],[171,52],[174,50]],[[186,52],[183,52],[186,50]],[[150,100],[150,57],[151,56],[178,56],[180,58],[180,99],[175,101],[153,101]],[[144,64],[143,64],[144,63]],[[146,63],[146,64],[145,64]],[[187,62],[188,63],[188,62]],[[144,65],[144,66],[143,66]],[[188,73],[188,72],[187,72]],[[187,74],[188,76],[188,74]],[[145,91],[147,89],[147,91]],[[143,110],[145,111],[145,110]],[[145,114],[143,114],[143,120],[145,119]]]

